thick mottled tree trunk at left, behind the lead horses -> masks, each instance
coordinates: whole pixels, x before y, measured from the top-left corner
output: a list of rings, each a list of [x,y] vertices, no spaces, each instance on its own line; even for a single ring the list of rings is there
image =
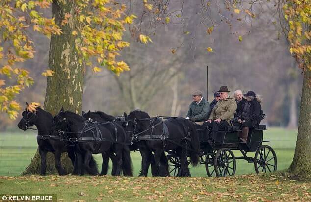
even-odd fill
[[[55,17],[56,24],[60,26],[66,13],[74,16],[74,1],[54,0],[52,4],[52,13]],[[69,23],[62,28],[61,35],[52,35],[49,53],[49,68],[55,72],[54,76],[47,79],[47,90],[44,102],[44,109],[55,115],[61,106],[65,110],[80,113],[82,110],[82,91],[83,91],[83,65],[78,62],[78,53],[75,48],[75,36],[72,35],[75,25],[74,17],[69,19]],[[39,174],[41,157],[37,150],[31,160],[30,165],[23,174]],[[67,155],[63,153],[61,163],[67,173],[72,172],[73,166]],[[55,158],[52,153],[47,155],[47,174],[55,173]]]

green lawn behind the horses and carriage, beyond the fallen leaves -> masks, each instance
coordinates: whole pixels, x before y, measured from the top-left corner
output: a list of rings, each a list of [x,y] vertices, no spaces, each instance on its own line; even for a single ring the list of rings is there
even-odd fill
[[[36,131],[0,133],[0,176],[17,176],[25,170],[36,149]],[[297,130],[271,128],[264,131],[264,139],[270,140],[265,144],[270,145],[277,154],[278,170],[289,167],[295,150]],[[234,151],[235,156],[241,155]],[[250,153],[249,156],[254,156]],[[101,155],[94,155],[99,169],[101,169]],[[134,175],[137,176],[141,167],[139,152],[131,152]],[[110,165],[111,168],[111,165]],[[111,169],[110,169],[111,170]],[[193,177],[206,177],[205,166],[190,168]],[[237,160],[236,175],[255,173],[254,164],[245,160]]]

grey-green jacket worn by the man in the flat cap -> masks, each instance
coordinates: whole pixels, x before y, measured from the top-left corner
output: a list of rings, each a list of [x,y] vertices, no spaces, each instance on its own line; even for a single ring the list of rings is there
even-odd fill
[[[189,111],[187,117],[194,117],[195,121],[207,121],[210,114],[209,102],[202,97],[202,101],[197,104],[197,102],[192,102],[189,106]]]

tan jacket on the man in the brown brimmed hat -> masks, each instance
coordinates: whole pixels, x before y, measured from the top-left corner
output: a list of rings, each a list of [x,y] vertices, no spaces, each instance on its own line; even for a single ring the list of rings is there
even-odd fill
[[[236,108],[237,105],[233,98],[228,97],[224,100],[220,100],[211,111],[209,119],[215,120],[220,118],[221,120],[225,120],[230,124],[230,120],[233,119],[233,114]]]

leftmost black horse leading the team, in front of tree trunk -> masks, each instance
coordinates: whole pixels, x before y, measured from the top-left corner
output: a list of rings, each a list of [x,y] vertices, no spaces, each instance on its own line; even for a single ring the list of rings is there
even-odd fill
[[[28,103],[26,103],[28,106]],[[40,174],[46,174],[47,168],[47,152],[52,152],[55,155],[55,167],[59,173],[59,175],[66,175],[65,169],[62,167],[60,162],[61,153],[67,152],[69,158],[71,159],[73,165],[75,165],[75,153],[71,146],[68,146],[67,143],[61,140],[61,136],[59,134],[54,134],[52,130],[53,126],[53,117],[47,111],[44,111],[40,107],[36,108],[36,111],[30,112],[29,110],[25,110],[22,113],[23,118],[18,123],[18,127],[21,130],[27,130],[30,126],[36,126],[38,129],[37,135],[37,143],[38,143],[38,150],[41,157],[41,168]],[[95,169],[97,164],[92,157],[90,161],[90,167]],[[74,166],[76,169],[76,167]],[[73,174],[76,174],[77,171],[74,169]]]

